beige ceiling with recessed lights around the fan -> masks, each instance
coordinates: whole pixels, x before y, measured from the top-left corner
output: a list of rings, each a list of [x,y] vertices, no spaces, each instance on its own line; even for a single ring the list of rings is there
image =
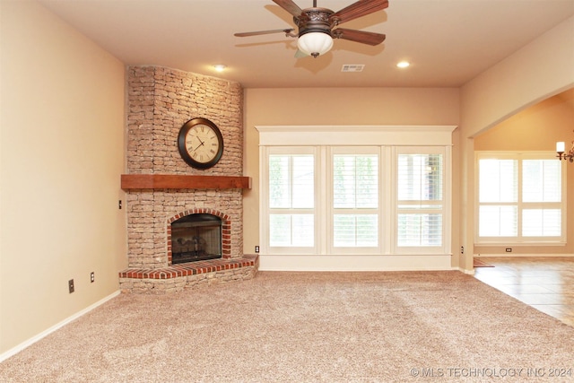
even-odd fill
[[[161,65],[245,88],[458,87],[574,14],[574,0],[389,0],[342,25],[385,33],[376,47],[335,40],[322,57],[295,58],[293,28],[271,0],[39,0],[126,65]],[[295,0],[301,8],[312,0]],[[338,11],[353,0],[317,0]],[[573,31],[574,32],[574,31]],[[574,44],[574,33],[573,33]],[[406,70],[396,68],[409,60]],[[213,65],[227,65],[216,73]],[[342,73],[343,65],[365,65]]]

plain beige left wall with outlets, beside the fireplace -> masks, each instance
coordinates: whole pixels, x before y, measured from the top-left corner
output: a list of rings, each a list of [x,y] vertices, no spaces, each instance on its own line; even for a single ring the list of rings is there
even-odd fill
[[[0,7],[1,355],[117,292],[126,228],[124,65],[35,2]]]

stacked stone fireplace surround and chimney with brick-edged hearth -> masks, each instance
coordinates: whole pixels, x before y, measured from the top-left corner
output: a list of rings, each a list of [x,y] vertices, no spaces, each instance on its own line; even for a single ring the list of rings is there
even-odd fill
[[[239,83],[157,66],[132,66],[127,68],[127,90],[128,174],[242,175],[243,89]],[[191,168],[178,152],[179,129],[199,117],[212,120],[223,135],[222,159],[208,170]],[[171,265],[170,223],[200,212],[223,219],[223,259]],[[250,278],[257,272],[257,258],[242,254],[241,189],[129,190],[126,214],[128,269],[120,273],[122,292],[178,291],[206,283],[198,280],[218,283]]]

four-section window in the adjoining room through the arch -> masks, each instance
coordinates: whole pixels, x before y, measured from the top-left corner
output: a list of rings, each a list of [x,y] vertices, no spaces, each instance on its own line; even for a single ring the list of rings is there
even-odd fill
[[[554,156],[477,152],[478,244],[565,240],[564,170]]]

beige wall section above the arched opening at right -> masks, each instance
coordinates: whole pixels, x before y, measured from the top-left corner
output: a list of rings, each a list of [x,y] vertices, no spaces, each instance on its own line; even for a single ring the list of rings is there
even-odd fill
[[[461,88],[465,137],[574,86],[574,16]]]

